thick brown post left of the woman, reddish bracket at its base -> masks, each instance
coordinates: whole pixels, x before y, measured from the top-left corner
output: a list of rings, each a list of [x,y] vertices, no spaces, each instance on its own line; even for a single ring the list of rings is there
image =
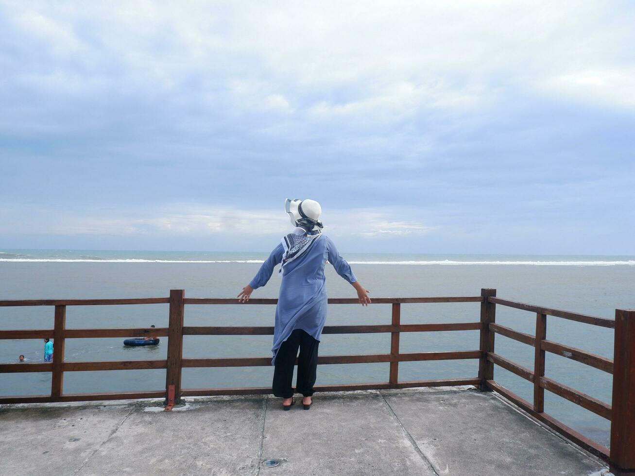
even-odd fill
[[[165,395],[174,385],[174,403],[181,400],[181,359],[183,358],[184,289],[170,289],[170,322],[168,324],[168,364],[166,368]]]

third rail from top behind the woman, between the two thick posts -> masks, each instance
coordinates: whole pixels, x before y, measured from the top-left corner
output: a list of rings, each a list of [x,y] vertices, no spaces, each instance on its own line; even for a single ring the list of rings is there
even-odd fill
[[[421,352],[419,354],[320,355],[318,364],[374,364],[378,362],[414,362],[417,360],[479,359],[480,350],[458,352]],[[183,367],[262,367],[271,366],[271,357],[182,359]]]

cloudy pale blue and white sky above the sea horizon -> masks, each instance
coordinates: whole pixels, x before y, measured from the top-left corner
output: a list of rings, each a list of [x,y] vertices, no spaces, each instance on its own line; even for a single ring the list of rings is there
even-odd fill
[[[0,249],[635,255],[628,1],[0,0]]]

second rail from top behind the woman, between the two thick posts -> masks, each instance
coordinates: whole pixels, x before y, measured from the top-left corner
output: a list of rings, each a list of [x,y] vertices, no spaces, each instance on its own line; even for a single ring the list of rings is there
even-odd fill
[[[323,334],[368,334],[392,332],[433,332],[433,331],[477,331],[480,322],[457,322],[453,324],[378,324],[370,326],[324,326]],[[68,331],[67,331],[68,332]],[[185,326],[184,336],[246,336],[273,335],[273,327],[250,326]]]

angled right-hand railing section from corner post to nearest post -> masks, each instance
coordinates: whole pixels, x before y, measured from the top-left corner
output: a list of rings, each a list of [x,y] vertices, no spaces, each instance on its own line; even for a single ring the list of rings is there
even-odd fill
[[[537,420],[561,433],[590,453],[610,463],[615,475],[635,474],[635,310],[616,310],[615,320],[545,308],[496,297],[494,289],[484,289],[481,322],[481,350],[479,369],[481,388],[489,388],[514,402]],[[486,301],[486,302],[485,302]],[[536,314],[535,335],[514,331],[496,324],[496,305],[517,308]],[[575,347],[547,340],[547,315],[592,326],[615,329],[614,359],[592,354]],[[505,359],[495,352],[495,334],[531,345],[535,348],[533,369]],[[613,405],[568,387],[545,376],[545,352],[576,360],[587,366],[613,374]],[[493,366],[503,367],[533,383],[533,402],[530,403],[494,380]],[[611,421],[611,449],[594,442],[573,428],[566,426],[544,411],[545,390]]]

